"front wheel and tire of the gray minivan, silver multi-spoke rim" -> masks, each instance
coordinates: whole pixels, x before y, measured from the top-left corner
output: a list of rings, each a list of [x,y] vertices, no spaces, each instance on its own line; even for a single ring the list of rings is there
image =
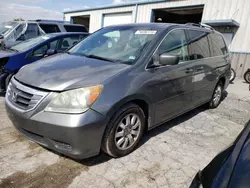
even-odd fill
[[[145,122],[144,112],[138,105],[131,103],[124,106],[111,118],[106,127],[102,151],[115,158],[131,153],[143,136]]]

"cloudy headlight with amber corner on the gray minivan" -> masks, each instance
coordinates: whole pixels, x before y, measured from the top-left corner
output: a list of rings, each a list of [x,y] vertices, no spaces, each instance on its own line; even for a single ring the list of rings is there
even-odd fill
[[[96,101],[102,88],[103,86],[97,85],[59,93],[52,99],[45,111],[66,114],[83,113]]]

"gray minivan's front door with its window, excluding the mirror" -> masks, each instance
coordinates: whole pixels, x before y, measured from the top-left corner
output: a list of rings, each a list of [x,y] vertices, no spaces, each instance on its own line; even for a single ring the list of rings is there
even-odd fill
[[[157,102],[155,103],[155,123],[171,119],[193,107],[193,62],[189,62],[188,45],[185,31],[170,31],[157,50],[157,54],[176,55],[177,65],[163,66],[154,74],[161,75],[158,82]]]

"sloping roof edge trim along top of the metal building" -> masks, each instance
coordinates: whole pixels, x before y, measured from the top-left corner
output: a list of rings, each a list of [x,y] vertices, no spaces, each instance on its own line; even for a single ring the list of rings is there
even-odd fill
[[[119,7],[135,6],[135,5],[161,3],[161,2],[166,2],[166,1],[168,1],[168,0],[148,0],[148,1],[146,0],[146,1],[139,1],[139,2],[131,2],[131,3],[121,3],[121,4],[99,6],[99,7],[94,7],[94,8],[70,10],[70,11],[65,11],[63,13],[68,14],[68,13],[76,13],[76,12],[86,12],[86,11],[101,10],[101,9],[110,9],[110,8],[119,8]]]

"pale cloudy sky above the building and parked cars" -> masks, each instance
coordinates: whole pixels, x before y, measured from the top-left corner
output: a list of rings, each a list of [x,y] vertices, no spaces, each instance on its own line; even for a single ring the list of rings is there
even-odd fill
[[[63,11],[140,0],[0,0],[0,23],[15,18],[62,20]]]

